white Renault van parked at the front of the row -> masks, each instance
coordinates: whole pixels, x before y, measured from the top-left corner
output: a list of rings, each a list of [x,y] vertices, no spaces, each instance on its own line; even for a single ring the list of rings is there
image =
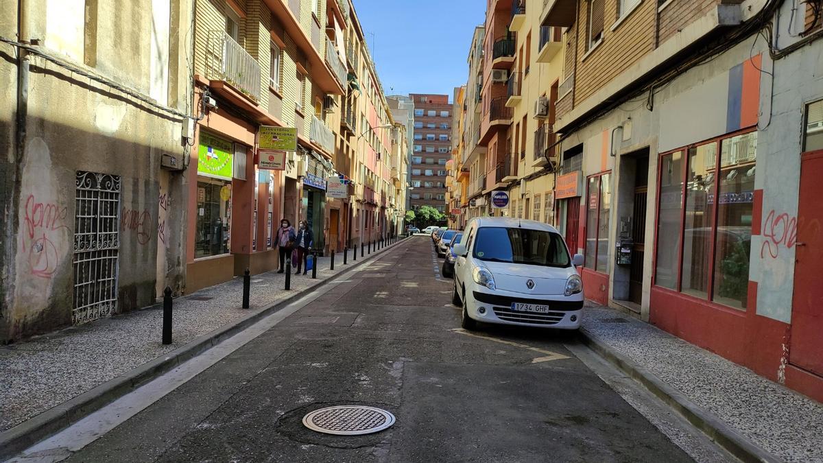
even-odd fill
[[[555,227],[532,220],[477,217],[453,247],[452,302],[463,307],[462,325],[477,321],[577,330],[583,280]]]

